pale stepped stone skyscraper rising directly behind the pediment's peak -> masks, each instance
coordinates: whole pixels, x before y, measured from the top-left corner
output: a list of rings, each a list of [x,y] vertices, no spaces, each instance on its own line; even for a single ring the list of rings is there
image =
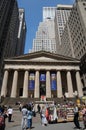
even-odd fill
[[[40,50],[55,53],[56,41],[53,20],[48,19],[45,22],[41,22],[38,27],[36,38],[33,40],[32,52]]]

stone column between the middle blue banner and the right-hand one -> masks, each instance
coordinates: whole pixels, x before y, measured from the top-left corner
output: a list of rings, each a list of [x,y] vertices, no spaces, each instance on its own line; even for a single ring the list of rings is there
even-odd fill
[[[51,98],[50,71],[46,72],[46,98]]]

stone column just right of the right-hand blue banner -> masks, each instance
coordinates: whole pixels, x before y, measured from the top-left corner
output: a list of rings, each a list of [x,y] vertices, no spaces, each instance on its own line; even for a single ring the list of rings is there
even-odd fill
[[[61,72],[57,71],[57,97],[61,98],[62,95],[62,81],[61,81]]]

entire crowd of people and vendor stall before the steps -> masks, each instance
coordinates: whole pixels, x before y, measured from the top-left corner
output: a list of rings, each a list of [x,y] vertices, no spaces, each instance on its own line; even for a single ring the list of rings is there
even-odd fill
[[[22,120],[21,120],[21,128],[22,130],[24,127],[26,129],[31,130],[32,128],[32,118],[36,116],[38,113],[41,119],[41,125],[47,126],[50,121],[54,121],[53,123],[57,123],[59,118],[67,119],[67,111],[68,108],[72,108],[73,111],[73,122],[77,129],[81,129],[79,123],[79,114],[82,114],[82,121],[83,127],[86,130],[86,105],[83,103],[81,105],[77,105],[73,102],[67,102],[65,104],[33,104],[33,102],[28,104],[21,104],[19,103],[19,110],[22,113]],[[17,105],[17,104],[16,104]],[[36,105],[36,110],[35,110]],[[21,108],[20,108],[21,107]],[[51,108],[53,108],[53,113],[51,112]],[[64,110],[63,110],[64,108]],[[63,110],[63,111],[62,111]],[[6,126],[6,118],[8,122],[12,122],[12,115],[13,115],[13,108],[11,106],[4,107],[0,106],[0,130],[5,130]],[[52,118],[53,116],[53,118]],[[52,120],[53,119],[53,120]]]

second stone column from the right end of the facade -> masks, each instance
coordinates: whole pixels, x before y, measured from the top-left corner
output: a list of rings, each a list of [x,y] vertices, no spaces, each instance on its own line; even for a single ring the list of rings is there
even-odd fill
[[[73,97],[73,84],[70,71],[67,72],[68,96]]]

